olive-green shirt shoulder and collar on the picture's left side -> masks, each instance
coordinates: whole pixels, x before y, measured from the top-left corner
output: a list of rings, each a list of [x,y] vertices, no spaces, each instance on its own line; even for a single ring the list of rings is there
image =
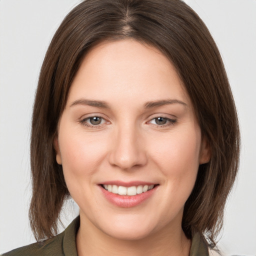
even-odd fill
[[[1,256],[43,256],[43,255],[77,255],[75,237],[79,228],[80,219],[76,217],[62,232],[41,242],[35,242]]]

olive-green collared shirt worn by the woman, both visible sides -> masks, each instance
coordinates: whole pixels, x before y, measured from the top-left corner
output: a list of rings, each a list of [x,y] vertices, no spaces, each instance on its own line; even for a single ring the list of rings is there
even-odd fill
[[[79,224],[78,216],[56,236],[11,250],[3,253],[2,256],[77,256],[75,236]],[[189,256],[208,256],[207,244],[199,234],[195,234],[192,238]]]

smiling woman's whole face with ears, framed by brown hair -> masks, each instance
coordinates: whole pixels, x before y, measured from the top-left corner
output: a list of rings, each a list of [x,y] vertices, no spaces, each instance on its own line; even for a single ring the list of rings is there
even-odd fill
[[[175,68],[131,39],[87,53],[54,146],[81,225],[123,239],[180,231],[198,165],[208,157]]]

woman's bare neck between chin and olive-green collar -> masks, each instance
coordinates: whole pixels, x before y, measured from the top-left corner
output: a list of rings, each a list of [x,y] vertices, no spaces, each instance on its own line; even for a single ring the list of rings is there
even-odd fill
[[[76,236],[78,256],[188,256],[190,245],[181,226],[164,227],[146,237],[125,240],[109,236],[90,221],[81,221]]]

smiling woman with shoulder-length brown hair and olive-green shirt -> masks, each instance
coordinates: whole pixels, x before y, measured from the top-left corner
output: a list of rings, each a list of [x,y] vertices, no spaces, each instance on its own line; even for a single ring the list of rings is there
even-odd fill
[[[56,31],[36,92],[38,243],[6,255],[208,255],[238,153],[227,77],[199,17],[177,0],[86,0]],[[80,214],[54,236],[67,196]]]

